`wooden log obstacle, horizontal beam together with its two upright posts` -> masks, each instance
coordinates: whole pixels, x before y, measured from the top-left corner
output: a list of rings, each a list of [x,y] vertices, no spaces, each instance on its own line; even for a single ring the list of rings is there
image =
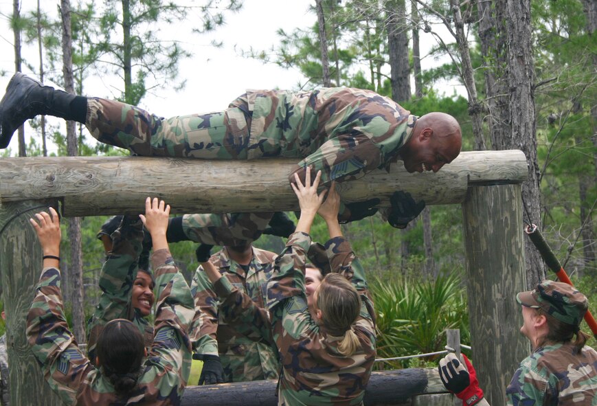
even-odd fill
[[[47,207],[49,200],[60,201],[65,216],[135,214],[144,210],[146,196],[164,198],[179,214],[296,210],[288,183],[294,165],[292,159],[0,159],[0,269],[7,293],[14,404],[37,405],[38,394],[49,391],[24,345],[24,317],[41,271],[41,249],[27,223],[32,213]],[[376,170],[338,187],[343,201],[379,197],[381,206],[389,205],[395,190],[410,192],[428,205],[462,203],[473,356],[481,386],[495,405],[506,403],[505,383],[516,362],[528,354],[528,344],[518,332],[521,317],[515,302],[515,294],[526,289],[520,183],[527,174],[526,158],[519,150],[475,151],[460,153],[435,174],[409,174],[398,162],[390,172]],[[387,374],[392,381],[401,380],[398,376]],[[238,387],[243,392],[243,386]],[[186,396],[194,391],[190,388]],[[44,399],[54,404],[50,397]]]

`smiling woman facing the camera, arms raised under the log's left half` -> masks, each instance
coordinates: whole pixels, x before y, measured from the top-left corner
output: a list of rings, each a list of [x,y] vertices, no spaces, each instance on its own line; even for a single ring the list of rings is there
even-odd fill
[[[117,227],[116,229],[113,229]],[[95,344],[104,325],[114,319],[131,320],[153,343],[153,325],[145,319],[155,301],[155,282],[149,271],[148,249],[144,249],[143,223],[139,216],[115,216],[106,221],[98,237],[106,249],[99,286],[102,295],[87,323],[87,356],[95,362]]]

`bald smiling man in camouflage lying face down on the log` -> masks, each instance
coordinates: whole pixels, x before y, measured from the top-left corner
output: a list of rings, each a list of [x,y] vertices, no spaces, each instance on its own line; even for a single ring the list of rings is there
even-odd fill
[[[164,119],[122,102],[58,91],[17,73],[0,102],[0,148],[25,120],[41,114],[85,124],[98,141],[137,155],[302,159],[289,181],[295,173],[304,176],[308,167],[322,171],[323,185],[388,169],[397,159],[408,172],[437,172],[458,157],[462,146],[460,125],[451,115],[416,117],[369,90],[247,91],[224,111]],[[425,207],[412,198],[407,203]],[[341,220],[371,216],[378,204],[379,199],[350,203],[341,207]],[[400,216],[392,216],[392,209],[390,224],[405,227],[408,222],[396,222],[405,218],[396,219]]]

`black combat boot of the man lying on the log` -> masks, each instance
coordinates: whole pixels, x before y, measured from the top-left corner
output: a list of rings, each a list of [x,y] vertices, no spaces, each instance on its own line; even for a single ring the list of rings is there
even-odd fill
[[[0,148],[8,146],[12,134],[25,120],[41,114],[85,124],[87,98],[44,86],[17,72],[0,102]]]

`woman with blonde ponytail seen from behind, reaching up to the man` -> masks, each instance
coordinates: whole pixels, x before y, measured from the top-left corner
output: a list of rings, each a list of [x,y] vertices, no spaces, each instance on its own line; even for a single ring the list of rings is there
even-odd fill
[[[282,361],[278,405],[361,405],[375,359],[374,311],[365,275],[341,234],[335,184],[317,194],[320,177],[317,172],[311,184],[309,169],[305,185],[295,177],[300,218],[267,285],[267,308]],[[325,247],[333,273],[308,301],[305,258],[317,213],[328,226]],[[311,311],[308,302],[313,302]]]

